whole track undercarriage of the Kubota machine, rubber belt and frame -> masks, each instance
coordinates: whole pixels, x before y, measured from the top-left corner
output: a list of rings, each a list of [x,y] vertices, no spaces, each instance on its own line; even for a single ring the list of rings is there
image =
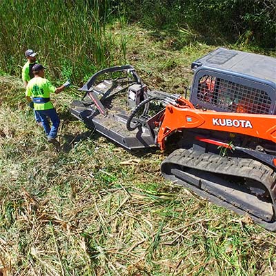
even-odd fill
[[[161,172],[215,204],[276,228],[276,173],[259,161],[181,148],[166,158]]]

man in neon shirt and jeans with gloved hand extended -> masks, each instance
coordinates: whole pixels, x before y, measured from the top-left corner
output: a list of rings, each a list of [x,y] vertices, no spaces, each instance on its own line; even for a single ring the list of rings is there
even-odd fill
[[[60,120],[50,101],[50,93],[58,94],[64,88],[70,86],[70,81],[66,81],[62,86],[55,88],[48,79],[44,78],[45,69],[39,63],[32,66],[34,78],[28,82],[26,87],[26,99],[29,103],[33,103],[34,110],[38,112],[42,126],[48,137],[48,142],[59,146],[59,141],[57,141],[56,137]],[[48,119],[52,122],[52,126],[50,126]]]

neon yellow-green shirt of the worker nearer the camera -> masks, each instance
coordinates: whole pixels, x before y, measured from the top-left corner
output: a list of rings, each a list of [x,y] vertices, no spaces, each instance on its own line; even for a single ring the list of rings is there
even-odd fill
[[[55,90],[55,86],[48,79],[34,77],[28,82],[26,96],[32,98],[50,98],[50,93],[54,93]],[[54,106],[50,101],[47,103],[34,103],[34,110],[47,110],[51,108],[54,108]]]

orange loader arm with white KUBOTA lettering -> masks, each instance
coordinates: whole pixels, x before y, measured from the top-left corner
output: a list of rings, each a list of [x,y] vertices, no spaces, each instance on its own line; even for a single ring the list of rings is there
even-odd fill
[[[216,112],[193,107],[186,99],[183,105],[166,106],[163,121],[157,135],[157,144],[164,150],[165,139],[177,130],[201,128],[238,133],[276,143],[276,116],[248,113]]]

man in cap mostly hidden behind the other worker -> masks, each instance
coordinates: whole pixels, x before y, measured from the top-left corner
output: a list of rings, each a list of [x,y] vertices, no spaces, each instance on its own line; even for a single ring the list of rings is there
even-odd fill
[[[24,87],[26,88],[30,79],[34,77],[34,73],[32,72],[32,66],[37,64],[37,52],[34,52],[32,49],[28,49],[25,52],[25,57],[28,61],[24,64],[22,68],[22,81],[24,83]],[[39,126],[42,126],[41,119],[39,114],[34,110],[34,119],[37,121]]]

